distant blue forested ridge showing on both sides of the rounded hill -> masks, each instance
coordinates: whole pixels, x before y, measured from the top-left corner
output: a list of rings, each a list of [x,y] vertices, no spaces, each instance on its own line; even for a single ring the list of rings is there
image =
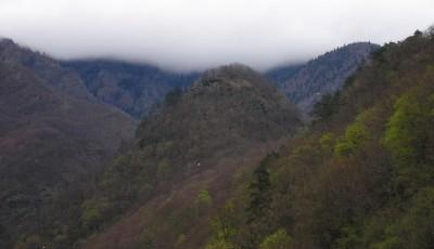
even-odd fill
[[[305,113],[322,95],[340,89],[379,45],[357,42],[328,52],[306,64],[275,68],[266,76]],[[149,115],[156,103],[175,88],[186,89],[199,74],[167,73],[150,65],[107,60],[63,62],[78,73],[89,92],[136,118]]]

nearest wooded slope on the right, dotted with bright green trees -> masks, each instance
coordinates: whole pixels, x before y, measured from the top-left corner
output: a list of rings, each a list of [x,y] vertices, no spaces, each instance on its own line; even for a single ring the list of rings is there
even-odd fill
[[[433,29],[382,47],[315,113],[239,183],[206,248],[432,248]]]

